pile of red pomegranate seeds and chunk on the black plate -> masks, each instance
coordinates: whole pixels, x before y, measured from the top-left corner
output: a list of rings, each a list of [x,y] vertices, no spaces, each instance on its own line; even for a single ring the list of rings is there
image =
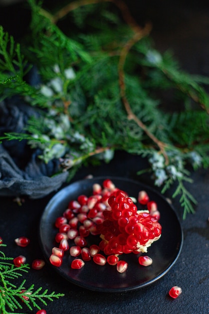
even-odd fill
[[[156,203],[149,201],[145,191],[139,192],[138,202],[146,205],[147,210],[137,212],[132,198],[109,179],[103,182],[103,187],[94,184],[92,196],[80,195],[77,200],[70,201],[63,215],[55,221],[55,227],[59,229],[55,241],[59,246],[52,249],[51,264],[60,267],[64,253],[68,251],[75,257],[72,268],[80,269],[93,259],[96,264],[107,262],[117,265],[119,272],[125,271],[128,264],[119,260],[119,255],[146,252],[161,235]],[[89,235],[100,235],[99,244],[88,246]],[[144,266],[151,262],[148,256],[139,260]]]

